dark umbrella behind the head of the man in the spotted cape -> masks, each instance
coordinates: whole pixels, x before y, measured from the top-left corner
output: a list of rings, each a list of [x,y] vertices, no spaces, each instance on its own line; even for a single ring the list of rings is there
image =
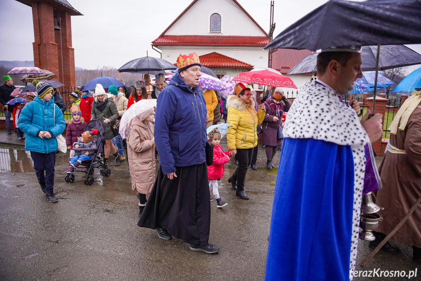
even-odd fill
[[[362,71],[376,70],[376,53],[377,46],[363,46],[361,48]],[[306,56],[287,75],[315,73],[318,55],[319,53],[315,53]],[[421,55],[404,45],[381,46],[379,70],[419,64],[421,64]]]

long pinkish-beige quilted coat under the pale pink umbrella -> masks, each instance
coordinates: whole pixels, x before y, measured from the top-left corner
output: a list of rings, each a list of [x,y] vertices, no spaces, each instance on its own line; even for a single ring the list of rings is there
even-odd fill
[[[149,127],[149,128],[148,128]],[[132,122],[127,136],[127,158],[129,160],[132,190],[149,194],[155,182],[154,125],[143,124],[138,117]]]

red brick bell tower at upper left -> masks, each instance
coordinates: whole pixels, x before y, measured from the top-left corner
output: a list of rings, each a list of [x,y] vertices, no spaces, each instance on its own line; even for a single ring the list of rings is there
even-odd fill
[[[34,65],[57,75],[65,86],[76,86],[71,16],[83,16],[67,0],[17,0],[32,7]]]

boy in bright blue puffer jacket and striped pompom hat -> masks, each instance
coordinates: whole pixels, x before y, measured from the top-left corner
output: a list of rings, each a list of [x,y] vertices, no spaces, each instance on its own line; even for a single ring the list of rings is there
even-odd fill
[[[20,113],[18,126],[26,133],[25,150],[31,152],[34,169],[41,190],[48,201],[56,203],[54,196],[54,166],[56,164],[56,136],[66,129],[63,113],[55,106],[53,88],[34,80],[38,96],[28,103]]]

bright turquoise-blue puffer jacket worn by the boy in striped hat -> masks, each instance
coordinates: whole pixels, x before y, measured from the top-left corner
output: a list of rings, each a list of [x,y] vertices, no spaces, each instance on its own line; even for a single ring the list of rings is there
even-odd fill
[[[66,129],[64,115],[58,106],[56,108],[56,125],[54,125],[54,97],[51,101],[41,101],[38,96],[33,102],[23,107],[19,115],[19,129],[26,133],[25,150],[40,153],[57,151],[56,136]],[[39,131],[49,131],[53,134],[51,138],[41,139]]]

